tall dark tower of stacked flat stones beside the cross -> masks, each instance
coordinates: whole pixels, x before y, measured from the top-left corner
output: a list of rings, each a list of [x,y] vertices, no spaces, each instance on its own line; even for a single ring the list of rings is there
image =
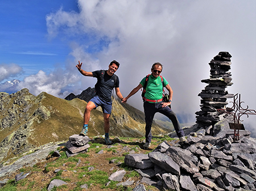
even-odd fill
[[[196,112],[196,123],[203,126],[214,125],[220,121],[220,112],[217,109],[225,109],[228,104],[226,99],[234,97],[225,90],[232,86],[230,70],[232,56],[228,52],[220,52],[210,61],[210,79],[201,82],[208,83],[198,95],[201,97],[201,111]]]

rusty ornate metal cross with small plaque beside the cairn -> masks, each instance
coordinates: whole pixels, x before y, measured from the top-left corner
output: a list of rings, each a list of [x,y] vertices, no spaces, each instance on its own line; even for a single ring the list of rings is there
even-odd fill
[[[232,101],[230,101],[232,103]],[[239,140],[239,130],[245,130],[243,124],[241,124],[241,116],[244,114],[249,117],[249,114],[256,114],[256,111],[253,109],[249,109],[248,105],[246,108],[242,107],[243,101],[241,101],[241,95],[236,94],[234,95],[233,107],[226,108],[226,109],[217,109],[220,113],[229,113],[232,114],[234,117],[234,123],[229,123],[229,128],[234,129],[234,140]],[[236,133],[238,130],[238,133]]]

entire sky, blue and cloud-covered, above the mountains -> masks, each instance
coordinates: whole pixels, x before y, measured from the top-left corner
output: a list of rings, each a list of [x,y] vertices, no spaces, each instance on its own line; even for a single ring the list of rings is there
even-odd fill
[[[123,96],[161,62],[174,90],[172,108],[195,121],[197,96],[218,52],[233,57],[230,94],[256,109],[256,2],[221,1],[0,1],[0,83],[22,80],[17,91],[64,98],[93,87],[87,71],[117,71]],[[1,90],[0,90],[1,91]],[[232,100],[230,100],[232,101]],[[128,101],[142,110],[140,92]],[[256,117],[250,116],[256,124]]]

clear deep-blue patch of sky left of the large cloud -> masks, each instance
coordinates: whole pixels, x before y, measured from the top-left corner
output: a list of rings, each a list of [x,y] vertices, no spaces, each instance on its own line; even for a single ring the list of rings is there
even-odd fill
[[[65,62],[70,51],[63,39],[49,39],[46,15],[63,7],[78,11],[76,1],[0,1],[0,63],[16,63],[24,78],[39,70],[49,73]],[[5,80],[5,79],[3,79]]]

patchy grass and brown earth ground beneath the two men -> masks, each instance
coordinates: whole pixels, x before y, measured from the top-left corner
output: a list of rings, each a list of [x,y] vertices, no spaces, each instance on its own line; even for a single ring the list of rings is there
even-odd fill
[[[113,137],[110,137],[114,141]],[[151,147],[148,150],[142,150],[140,146],[143,144],[143,138],[121,138],[123,143],[115,143],[112,148],[108,148],[103,139],[99,138],[94,143],[90,143],[89,151],[84,154],[79,154],[71,158],[67,158],[65,155],[65,147],[59,147],[61,154],[60,158],[49,157],[46,161],[37,163],[34,167],[23,167],[19,171],[9,175],[8,177],[2,177],[0,180],[9,179],[7,185],[0,189],[0,191],[10,190],[47,190],[49,183],[53,179],[60,179],[67,182],[67,185],[55,188],[55,190],[83,190],[80,185],[87,184],[88,190],[133,190],[135,182],[142,179],[141,175],[132,167],[127,167],[123,163],[125,155],[128,152],[133,151],[135,153],[148,154],[159,145],[160,142],[174,141],[169,137],[154,137],[152,139]],[[177,141],[174,141],[177,142]],[[104,142],[104,141],[103,141]],[[123,149],[126,147],[126,150]],[[103,154],[97,154],[103,150]],[[110,163],[110,160],[115,159],[114,163]],[[89,172],[89,167],[93,167],[94,170]],[[58,173],[54,173],[55,169],[60,169]],[[109,186],[106,186],[108,177],[116,171],[125,169],[126,175],[123,177],[122,182],[130,179],[134,181],[130,186],[115,186],[118,182],[111,181]],[[20,172],[30,172],[30,175],[26,179],[15,182],[15,175]],[[147,190],[156,191],[154,186],[148,186],[144,184]],[[164,190],[164,189],[162,189]]]

